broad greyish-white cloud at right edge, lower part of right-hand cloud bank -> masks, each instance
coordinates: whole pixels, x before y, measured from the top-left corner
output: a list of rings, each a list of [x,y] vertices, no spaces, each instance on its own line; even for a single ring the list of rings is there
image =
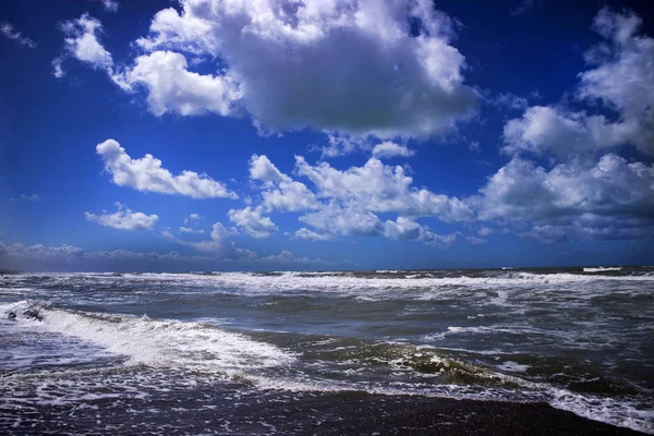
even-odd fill
[[[559,164],[550,171],[513,158],[470,203],[482,219],[545,225],[583,214],[654,216],[654,166],[613,154],[591,167]]]

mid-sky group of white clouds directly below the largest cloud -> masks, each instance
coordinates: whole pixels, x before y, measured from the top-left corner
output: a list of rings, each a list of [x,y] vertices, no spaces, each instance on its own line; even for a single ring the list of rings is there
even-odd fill
[[[463,201],[413,187],[413,179],[403,167],[386,166],[376,158],[363,167],[338,170],[327,162],[312,166],[295,156],[294,172],[308,179],[313,190],[279,171],[266,156],[254,155],[250,161],[250,178],[261,182],[261,206],[253,210],[261,213],[265,207],[269,211],[302,213],[299,220],[314,229],[301,228],[292,234],[294,239],[328,241],[335,237],[385,235],[448,246],[456,238],[440,237],[407,217],[434,216],[448,222],[474,218]],[[385,223],[377,214],[396,214],[398,221]],[[398,231],[398,226],[413,226],[415,231],[410,237]]]

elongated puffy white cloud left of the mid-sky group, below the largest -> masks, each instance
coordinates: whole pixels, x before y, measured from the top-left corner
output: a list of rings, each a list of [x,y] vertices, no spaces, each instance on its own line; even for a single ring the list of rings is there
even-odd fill
[[[111,174],[113,183],[119,186],[193,198],[238,198],[223,183],[216,182],[208,175],[194,171],[182,171],[179,175],[172,175],[169,170],[161,168],[161,161],[153,155],[132,159],[113,140],[98,144],[96,150],[102,157],[105,169]]]

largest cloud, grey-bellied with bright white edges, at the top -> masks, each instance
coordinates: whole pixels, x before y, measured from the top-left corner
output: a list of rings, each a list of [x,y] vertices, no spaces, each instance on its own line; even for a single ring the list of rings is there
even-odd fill
[[[145,53],[120,71],[96,44],[99,22],[76,22],[69,51],[123,89],[145,89],[157,116],[249,113],[265,131],[427,137],[476,107],[451,20],[431,0],[182,0],[154,16],[136,40]],[[190,71],[189,57],[215,73]]]

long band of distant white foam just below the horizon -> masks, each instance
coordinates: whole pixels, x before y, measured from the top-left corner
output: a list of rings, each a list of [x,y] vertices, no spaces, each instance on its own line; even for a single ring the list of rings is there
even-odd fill
[[[408,271],[410,272],[410,271]],[[414,272],[414,271],[411,271]],[[29,276],[21,276],[23,279]],[[397,276],[356,276],[352,272],[278,272],[275,275],[261,275],[251,272],[215,272],[207,275],[198,274],[123,274],[121,276],[97,275],[97,274],[53,274],[50,278],[62,283],[80,284],[80,281],[90,280],[95,283],[104,282],[111,287],[132,286],[134,283],[147,282],[148,284],[161,283],[178,284],[180,289],[175,292],[197,292],[202,289],[215,290],[216,292],[233,292],[239,294],[269,295],[269,294],[310,294],[320,292],[325,296],[351,295],[366,300],[396,299],[398,292],[402,298],[416,300],[438,300],[444,296],[461,296],[461,292],[469,290],[493,291],[485,296],[488,304],[507,305],[511,303],[510,293],[506,290],[516,291],[524,288],[530,290],[547,290],[548,288],[564,289],[580,284],[606,283],[628,284],[633,282],[654,283],[654,275],[641,274],[632,276],[609,276],[603,274],[533,274],[526,271],[502,271],[491,276],[458,276],[458,277],[425,277],[425,275],[411,275],[412,278]],[[574,296],[582,296],[590,292],[602,293],[596,287],[583,286],[583,292],[576,292]],[[596,289],[597,292],[594,292]],[[602,291],[602,292],[601,292]],[[620,291],[617,289],[616,291]],[[68,291],[66,291],[68,292]],[[75,298],[84,298],[83,294]],[[124,301],[126,295],[120,295],[117,302]],[[107,300],[107,295],[104,296]],[[110,301],[105,301],[110,303]]]

